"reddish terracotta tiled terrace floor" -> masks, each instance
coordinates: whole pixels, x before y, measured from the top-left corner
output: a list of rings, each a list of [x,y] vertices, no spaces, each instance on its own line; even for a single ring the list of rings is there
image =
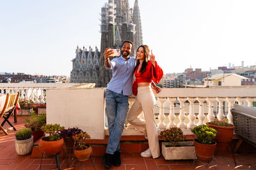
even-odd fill
[[[13,117],[10,118],[13,122]],[[2,120],[1,120],[2,121]],[[22,118],[18,117],[18,123],[13,124],[17,129],[22,129],[24,123]],[[8,124],[4,125],[4,129],[9,127]],[[15,131],[8,131],[8,136],[0,132],[0,169],[39,169],[40,158],[31,158],[30,155],[19,156],[15,152]],[[204,162],[195,162],[194,169],[253,169],[256,170],[256,153],[236,153],[237,166],[234,164],[234,159],[231,153],[218,153],[210,164]],[[122,165],[119,167],[111,167],[111,169],[192,169],[193,160],[164,160],[163,156],[158,159],[142,158],[138,153],[122,153]],[[95,169],[105,169],[102,157],[92,157]],[[75,161],[68,162],[67,159],[60,158],[61,169],[93,169],[92,162],[86,160],[84,162],[77,162],[74,167]],[[54,158],[44,158],[42,161],[41,169],[56,169],[56,161]]]

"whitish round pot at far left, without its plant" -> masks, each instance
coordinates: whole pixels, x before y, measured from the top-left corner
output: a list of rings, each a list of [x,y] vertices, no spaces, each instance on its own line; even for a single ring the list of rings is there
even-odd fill
[[[28,155],[33,148],[33,136],[25,140],[15,139],[15,150],[18,155]]]

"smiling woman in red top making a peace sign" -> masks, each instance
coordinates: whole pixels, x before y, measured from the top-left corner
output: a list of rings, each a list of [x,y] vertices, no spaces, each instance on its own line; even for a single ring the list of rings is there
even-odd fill
[[[150,60],[148,60],[148,57]],[[149,54],[147,45],[139,46],[136,52],[136,59],[137,64],[134,72],[136,80],[132,85],[132,93],[135,96],[137,95],[137,97],[127,113],[127,122],[138,129],[138,131],[144,134],[147,132],[149,148],[145,152],[141,152],[141,157],[153,157],[155,159],[160,156],[160,150],[157,133],[158,128],[154,117],[156,99],[151,89],[151,82],[153,80],[159,83],[163,76],[163,70],[157,65],[152,50],[151,54]],[[144,113],[145,120],[138,118],[141,111]]]

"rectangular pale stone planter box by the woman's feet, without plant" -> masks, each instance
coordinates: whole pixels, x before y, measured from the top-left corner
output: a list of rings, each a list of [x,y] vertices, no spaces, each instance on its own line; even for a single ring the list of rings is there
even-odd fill
[[[170,142],[162,143],[162,154],[166,160],[195,159],[195,146],[193,141],[177,142],[172,146]]]

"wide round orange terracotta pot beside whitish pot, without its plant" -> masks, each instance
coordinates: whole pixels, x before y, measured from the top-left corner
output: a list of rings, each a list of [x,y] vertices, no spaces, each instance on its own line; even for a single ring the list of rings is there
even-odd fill
[[[64,145],[63,138],[58,141],[44,141],[45,138],[40,139],[38,143],[41,153],[43,153],[45,156],[51,156],[61,152]]]

